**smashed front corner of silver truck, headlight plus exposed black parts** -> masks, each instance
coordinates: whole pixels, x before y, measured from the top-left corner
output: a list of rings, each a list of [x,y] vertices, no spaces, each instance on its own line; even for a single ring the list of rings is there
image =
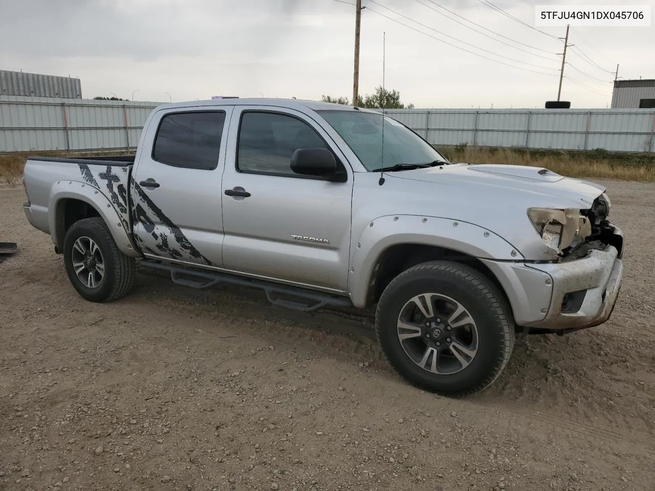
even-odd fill
[[[621,257],[623,236],[607,217],[612,203],[605,192],[588,209],[530,208],[528,217],[548,247],[551,261],[571,261],[586,257],[593,249],[613,245]]]

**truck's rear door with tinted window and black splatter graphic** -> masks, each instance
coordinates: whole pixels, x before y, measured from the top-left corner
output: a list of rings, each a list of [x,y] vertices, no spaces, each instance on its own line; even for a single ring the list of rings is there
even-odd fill
[[[155,115],[132,174],[134,236],[148,257],[223,265],[221,174],[231,106]]]

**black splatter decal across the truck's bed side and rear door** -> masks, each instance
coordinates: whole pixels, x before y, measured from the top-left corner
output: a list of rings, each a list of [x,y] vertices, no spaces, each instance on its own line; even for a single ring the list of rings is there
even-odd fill
[[[101,168],[101,166],[94,167]],[[100,189],[102,194],[107,196],[107,199],[119,211],[122,226],[129,232],[130,205],[127,196],[129,168],[127,166],[106,166],[105,170],[95,170],[87,164],[79,164],[79,168],[84,181]],[[179,227],[164,215],[164,212],[153,203],[147,193],[134,181],[134,177],[130,176],[129,179],[130,185],[135,191],[134,197],[137,198],[132,208],[132,223],[141,223],[145,232],[155,240],[153,248],[152,241],[149,240],[149,244],[147,244],[143,240],[143,237],[133,234],[136,245],[142,251],[153,255],[168,255],[173,259],[189,261],[191,263],[203,262],[211,266],[212,262],[200,254],[200,251],[189,242],[189,239],[182,233]],[[157,233],[155,222],[165,227],[166,231],[164,233]]]

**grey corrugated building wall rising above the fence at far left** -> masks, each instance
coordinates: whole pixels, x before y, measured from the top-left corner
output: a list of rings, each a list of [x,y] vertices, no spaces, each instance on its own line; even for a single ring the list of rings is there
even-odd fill
[[[81,99],[80,79],[0,70],[0,96]]]

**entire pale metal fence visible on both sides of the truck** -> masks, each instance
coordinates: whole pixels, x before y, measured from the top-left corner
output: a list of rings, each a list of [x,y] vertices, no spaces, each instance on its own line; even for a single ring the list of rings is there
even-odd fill
[[[0,153],[130,151],[157,102],[0,96]],[[389,109],[434,145],[655,152],[653,109]]]

